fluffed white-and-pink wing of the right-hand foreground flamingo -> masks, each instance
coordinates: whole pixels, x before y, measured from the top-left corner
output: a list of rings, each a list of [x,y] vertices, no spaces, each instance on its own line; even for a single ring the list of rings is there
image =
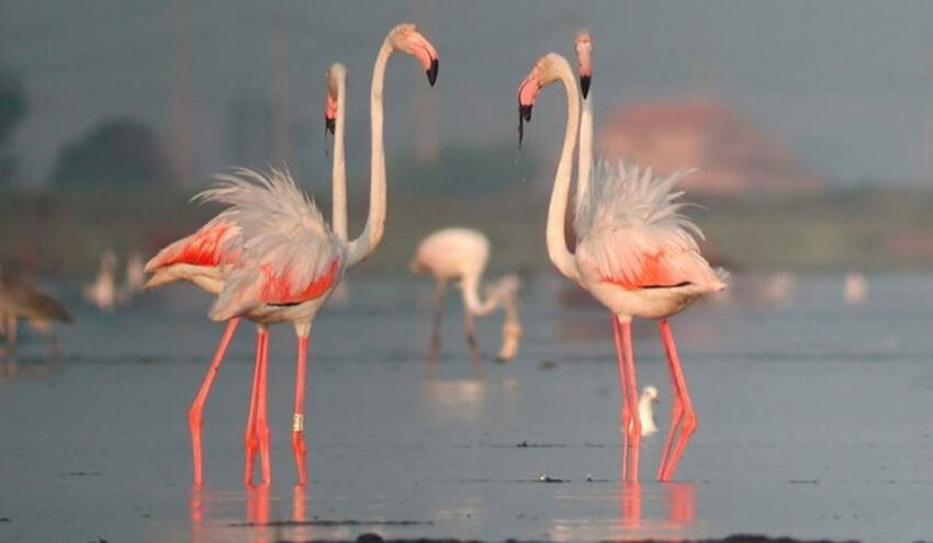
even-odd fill
[[[700,229],[679,213],[682,170],[655,177],[650,168],[600,161],[577,216],[577,262],[598,280],[626,290],[687,283],[720,287],[722,273],[699,252]]]

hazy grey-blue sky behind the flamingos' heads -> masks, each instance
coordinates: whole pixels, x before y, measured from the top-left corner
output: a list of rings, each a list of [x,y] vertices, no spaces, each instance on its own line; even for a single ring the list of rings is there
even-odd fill
[[[108,117],[134,115],[170,134],[177,5],[191,41],[196,176],[231,166],[231,102],[271,92],[276,29],[289,43],[294,169],[328,177],[321,115],[334,60],[350,71],[350,160],[366,167],[372,60],[385,32],[412,20],[440,52],[432,92],[442,142],[513,144],[517,83],[540,54],[571,55],[574,32],[587,26],[597,120],[620,101],[713,95],[817,174],[933,183],[933,2],[811,0],[0,0],[0,63],[23,75],[32,109],[16,138],[29,179],[47,176],[63,143]],[[412,142],[411,104],[426,87],[413,60],[390,66],[392,149]],[[555,152],[564,115],[561,93],[550,92],[529,145]]]

